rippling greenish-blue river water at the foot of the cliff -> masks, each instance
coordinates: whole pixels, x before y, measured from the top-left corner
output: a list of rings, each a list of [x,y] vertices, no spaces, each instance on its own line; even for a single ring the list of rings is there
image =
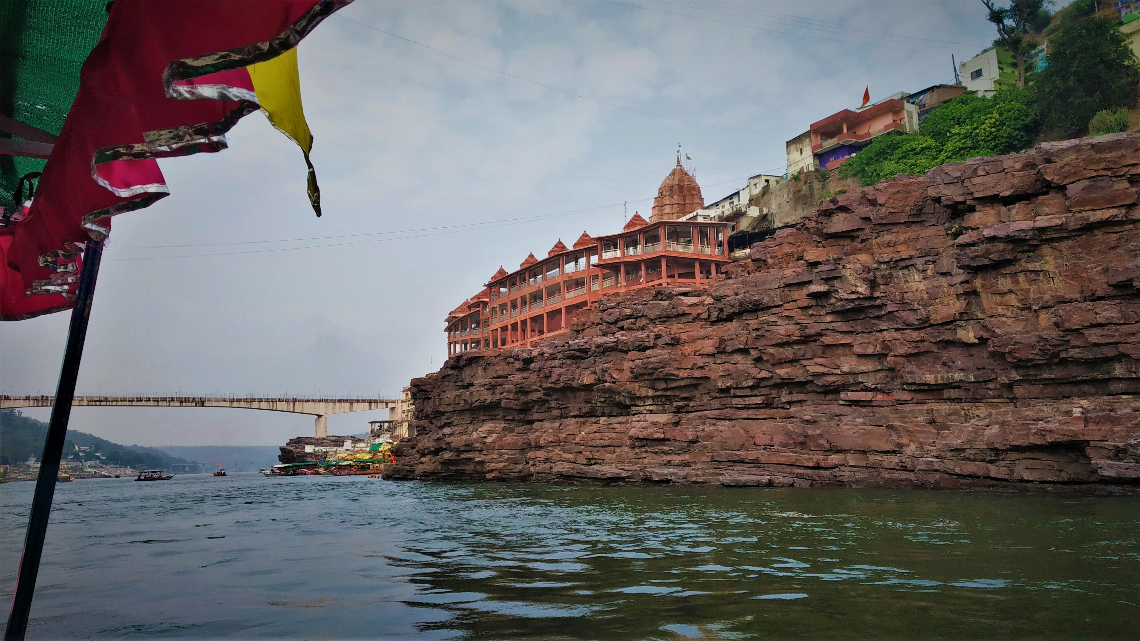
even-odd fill
[[[10,600],[32,482],[0,489]],[[31,639],[1135,639],[1140,500],[78,480]]]

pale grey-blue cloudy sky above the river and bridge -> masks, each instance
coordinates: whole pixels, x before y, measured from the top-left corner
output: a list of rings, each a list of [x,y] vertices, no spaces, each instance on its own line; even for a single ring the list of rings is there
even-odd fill
[[[171,195],[114,221],[78,391],[396,393],[499,265],[648,211],[678,143],[711,202],[782,173],[784,141],[864,87],[952,82],[951,55],[992,40],[978,0],[358,0],[300,47],[325,216],[260,114],[222,153],[162,161]],[[0,324],[5,393],[54,393],[66,330]],[[76,408],[71,427],[269,445],[312,419]]]

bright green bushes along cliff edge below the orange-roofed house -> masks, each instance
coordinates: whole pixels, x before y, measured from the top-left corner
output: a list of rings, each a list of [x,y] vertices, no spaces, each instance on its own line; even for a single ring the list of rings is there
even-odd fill
[[[925,173],[946,162],[995,156],[1033,143],[1037,119],[1033,94],[1005,89],[993,98],[966,94],[930,112],[919,133],[880,136],[839,167],[866,187],[899,173]]]

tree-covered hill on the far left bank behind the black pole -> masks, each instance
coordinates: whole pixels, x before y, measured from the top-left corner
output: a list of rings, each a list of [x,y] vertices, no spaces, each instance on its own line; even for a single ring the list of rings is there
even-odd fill
[[[48,436],[48,424],[18,409],[0,409],[0,463],[23,463],[28,456],[43,455],[43,440]],[[80,452],[76,447],[90,447]],[[96,454],[103,454],[99,459]],[[192,463],[172,456],[156,447],[120,445],[85,432],[67,430],[64,443],[64,460],[101,460],[113,465],[139,470],[169,470],[171,465]]]

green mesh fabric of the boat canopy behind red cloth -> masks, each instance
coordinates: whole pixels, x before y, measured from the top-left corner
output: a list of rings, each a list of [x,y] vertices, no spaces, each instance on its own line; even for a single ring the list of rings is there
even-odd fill
[[[107,0],[0,1],[0,113],[59,133],[79,91],[79,70],[107,22],[106,6]],[[0,155],[0,206],[15,208],[19,177],[42,170],[44,162]]]

